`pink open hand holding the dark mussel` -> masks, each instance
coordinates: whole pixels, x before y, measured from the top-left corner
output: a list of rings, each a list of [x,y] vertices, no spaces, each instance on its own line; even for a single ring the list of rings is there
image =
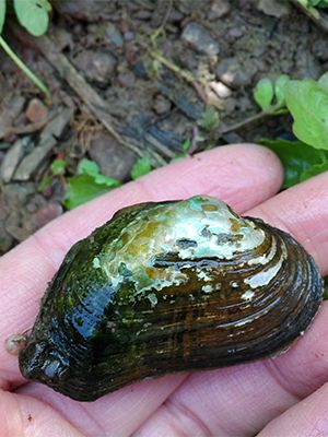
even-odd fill
[[[325,436],[328,434],[328,303],[277,358],[126,387],[92,403],[24,380],[4,340],[33,324],[47,282],[69,247],[128,204],[203,193],[288,231],[328,273],[328,173],[277,194],[279,160],[229,145],[180,161],[54,221],[0,259],[0,435]]]

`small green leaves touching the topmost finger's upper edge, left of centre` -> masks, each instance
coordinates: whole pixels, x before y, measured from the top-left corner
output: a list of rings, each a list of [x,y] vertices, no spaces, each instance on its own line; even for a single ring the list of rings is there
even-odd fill
[[[95,162],[83,158],[78,165],[78,175],[67,178],[65,206],[71,210],[119,185],[119,180],[102,175]]]

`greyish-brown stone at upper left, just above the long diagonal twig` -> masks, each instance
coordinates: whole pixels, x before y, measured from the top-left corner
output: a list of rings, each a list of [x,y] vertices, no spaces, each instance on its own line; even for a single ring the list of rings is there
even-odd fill
[[[117,59],[109,51],[83,50],[72,62],[86,79],[105,85],[110,82],[117,66]]]

